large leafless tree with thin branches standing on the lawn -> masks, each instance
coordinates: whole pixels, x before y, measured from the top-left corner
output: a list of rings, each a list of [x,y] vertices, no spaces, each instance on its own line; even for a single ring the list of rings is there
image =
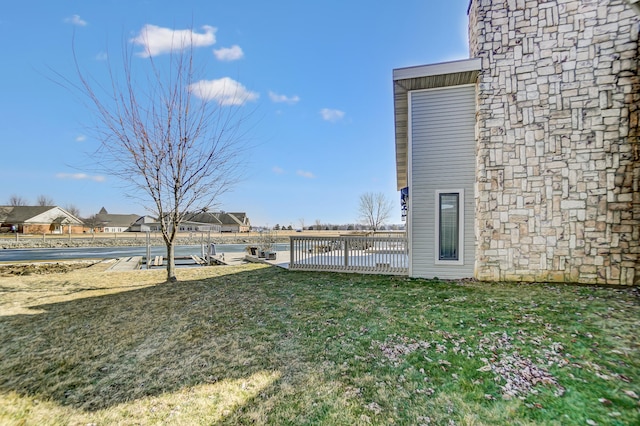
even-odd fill
[[[246,150],[240,132],[246,118],[240,97],[246,95],[232,84],[222,89],[224,102],[204,93],[192,40],[175,43],[166,61],[154,59],[148,48],[139,55],[145,59],[136,58],[124,43],[122,70],[109,63],[106,86],[85,74],[74,55],[80,81],[74,87],[98,120],[98,168],[128,186],[130,196],[158,218],[168,282],[177,281],[174,243],[185,213],[215,205],[232,188]]]

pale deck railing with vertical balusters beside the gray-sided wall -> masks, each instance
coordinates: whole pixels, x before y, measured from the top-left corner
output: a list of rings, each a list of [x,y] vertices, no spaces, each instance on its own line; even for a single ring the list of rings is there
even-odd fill
[[[405,236],[292,236],[289,269],[408,275]]]

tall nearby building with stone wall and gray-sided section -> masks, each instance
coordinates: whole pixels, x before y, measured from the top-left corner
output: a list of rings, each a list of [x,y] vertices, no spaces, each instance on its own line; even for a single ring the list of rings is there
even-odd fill
[[[640,284],[631,3],[471,0],[470,59],[393,71],[410,276]]]

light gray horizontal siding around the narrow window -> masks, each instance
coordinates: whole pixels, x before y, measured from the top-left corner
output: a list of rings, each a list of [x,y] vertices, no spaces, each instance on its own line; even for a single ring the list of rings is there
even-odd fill
[[[475,86],[414,91],[410,109],[411,275],[472,277],[475,262]],[[464,264],[437,265],[435,194],[464,190]]]

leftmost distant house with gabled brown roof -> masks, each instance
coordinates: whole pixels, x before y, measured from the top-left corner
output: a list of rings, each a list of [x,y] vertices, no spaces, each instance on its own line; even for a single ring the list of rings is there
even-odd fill
[[[0,206],[0,229],[21,234],[71,234],[84,230],[83,222],[57,206]]]

